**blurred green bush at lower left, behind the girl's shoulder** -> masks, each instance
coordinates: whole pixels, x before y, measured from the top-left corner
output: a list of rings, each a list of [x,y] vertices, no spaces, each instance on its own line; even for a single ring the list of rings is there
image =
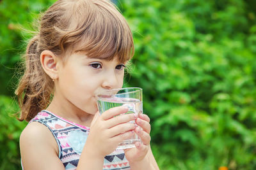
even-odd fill
[[[19,137],[26,123],[15,119],[17,103],[0,96],[0,169],[20,169]]]

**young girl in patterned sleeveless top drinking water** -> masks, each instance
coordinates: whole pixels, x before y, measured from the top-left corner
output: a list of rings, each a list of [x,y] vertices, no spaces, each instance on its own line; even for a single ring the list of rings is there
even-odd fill
[[[107,0],[60,0],[44,13],[16,90],[20,120],[29,122],[20,135],[23,169],[159,169],[147,115],[97,110],[96,94],[122,87],[133,52],[127,22]],[[134,132],[141,143],[115,150]]]

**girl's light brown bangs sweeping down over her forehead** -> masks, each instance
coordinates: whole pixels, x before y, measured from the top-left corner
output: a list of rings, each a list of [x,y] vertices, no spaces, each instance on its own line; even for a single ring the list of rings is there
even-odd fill
[[[125,18],[116,9],[111,9],[112,6],[96,4],[93,7],[91,20],[88,22],[86,18],[87,22],[76,31],[79,38],[73,42],[72,51],[84,52],[92,58],[130,60],[134,55],[134,43]]]

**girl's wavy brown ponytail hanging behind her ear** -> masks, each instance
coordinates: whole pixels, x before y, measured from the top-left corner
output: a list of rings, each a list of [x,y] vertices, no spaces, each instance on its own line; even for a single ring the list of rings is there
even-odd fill
[[[19,120],[29,122],[50,103],[53,83],[40,64],[38,50],[39,35],[32,38],[27,46],[25,57],[26,70],[15,90],[20,107]]]

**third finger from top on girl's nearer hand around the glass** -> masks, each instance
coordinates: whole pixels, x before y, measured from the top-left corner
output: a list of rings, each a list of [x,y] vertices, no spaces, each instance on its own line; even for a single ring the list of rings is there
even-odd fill
[[[127,132],[127,131],[134,131],[135,127],[136,125],[132,123],[116,125],[115,127],[108,129],[109,137],[111,138],[118,134],[123,134],[124,132]]]

